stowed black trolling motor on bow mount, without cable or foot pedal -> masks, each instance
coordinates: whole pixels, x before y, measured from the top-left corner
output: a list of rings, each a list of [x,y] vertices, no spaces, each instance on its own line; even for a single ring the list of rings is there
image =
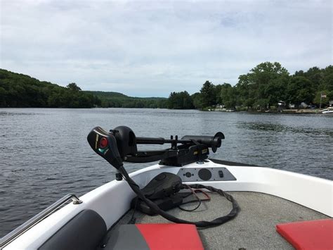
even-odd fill
[[[88,142],[96,154],[105,158],[111,165],[119,169],[123,161],[147,163],[159,161],[162,165],[186,165],[208,158],[209,148],[215,153],[221,146],[224,135],[217,132],[214,137],[185,135],[181,139],[136,137],[133,130],[126,126],[116,127],[106,132],[95,127],[89,133]],[[157,151],[138,151],[137,144],[171,144],[171,148]],[[179,145],[178,145],[179,144]]]

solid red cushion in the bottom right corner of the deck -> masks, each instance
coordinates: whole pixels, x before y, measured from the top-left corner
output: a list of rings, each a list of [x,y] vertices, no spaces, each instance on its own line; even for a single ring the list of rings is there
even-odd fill
[[[333,249],[333,220],[310,220],[276,225],[296,249]]]

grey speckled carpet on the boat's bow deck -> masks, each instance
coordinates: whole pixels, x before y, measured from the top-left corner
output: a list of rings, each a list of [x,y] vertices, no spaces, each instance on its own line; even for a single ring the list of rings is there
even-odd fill
[[[237,200],[241,211],[237,218],[226,224],[198,230],[205,249],[294,249],[275,231],[276,224],[329,218],[322,213],[268,194],[228,193]],[[230,202],[218,194],[209,194],[211,201],[203,202],[197,211],[185,212],[174,208],[169,212],[178,218],[192,221],[212,220],[226,215],[231,209]],[[132,213],[133,211],[126,213],[112,230],[128,223]],[[159,215],[149,216],[136,212],[136,223],[169,223],[169,221]],[[112,230],[109,233],[112,233]]]

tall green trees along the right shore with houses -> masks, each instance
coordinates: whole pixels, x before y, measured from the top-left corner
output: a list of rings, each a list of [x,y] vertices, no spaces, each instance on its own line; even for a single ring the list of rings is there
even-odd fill
[[[207,109],[216,105],[243,110],[267,109],[278,106],[279,101],[294,104],[295,107],[306,104],[326,106],[333,100],[333,66],[313,67],[306,72],[296,71],[294,75],[280,63],[260,63],[246,75],[240,75],[235,86],[228,83],[214,85],[204,82],[200,92],[171,92],[168,108]]]

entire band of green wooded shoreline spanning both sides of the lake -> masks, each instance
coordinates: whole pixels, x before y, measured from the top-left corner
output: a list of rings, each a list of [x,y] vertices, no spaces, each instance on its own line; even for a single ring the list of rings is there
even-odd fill
[[[171,108],[208,109],[220,105],[237,110],[266,109],[278,101],[299,106],[302,102],[327,106],[333,100],[333,66],[313,67],[294,75],[280,63],[260,63],[240,75],[235,86],[204,82],[200,92],[171,92],[168,99],[138,98],[117,92],[81,91],[74,83],[60,87],[28,75],[0,69],[0,107],[34,108]]]

